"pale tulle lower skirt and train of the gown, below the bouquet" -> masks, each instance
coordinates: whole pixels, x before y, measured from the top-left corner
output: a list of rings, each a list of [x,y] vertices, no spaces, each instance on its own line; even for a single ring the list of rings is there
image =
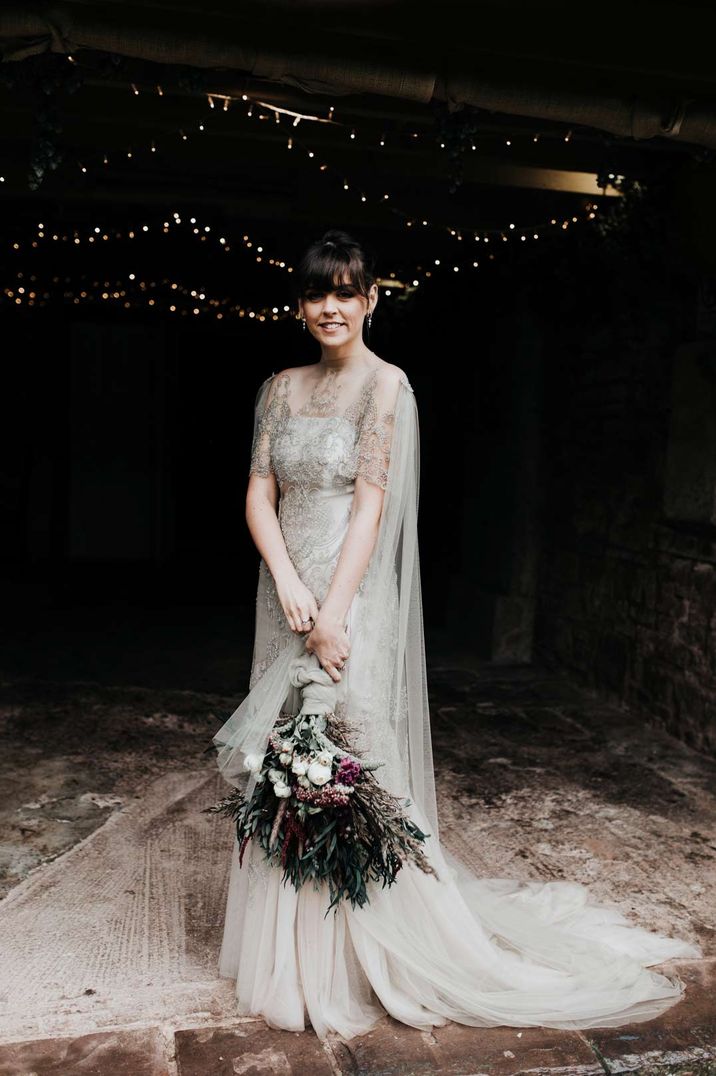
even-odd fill
[[[439,879],[407,863],[362,908],[325,916],[325,886],[282,883],[253,844],[239,868],[236,848],[220,973],[236,979],[238,1011],[292,1031],[310,1021],[320,1038],[351,1038],[385,1011],[422,1030],[617,1027],[680,999],[680,978],[648,965],[701,957],[580,883],[480,879],[432,838],[426,851]]]

